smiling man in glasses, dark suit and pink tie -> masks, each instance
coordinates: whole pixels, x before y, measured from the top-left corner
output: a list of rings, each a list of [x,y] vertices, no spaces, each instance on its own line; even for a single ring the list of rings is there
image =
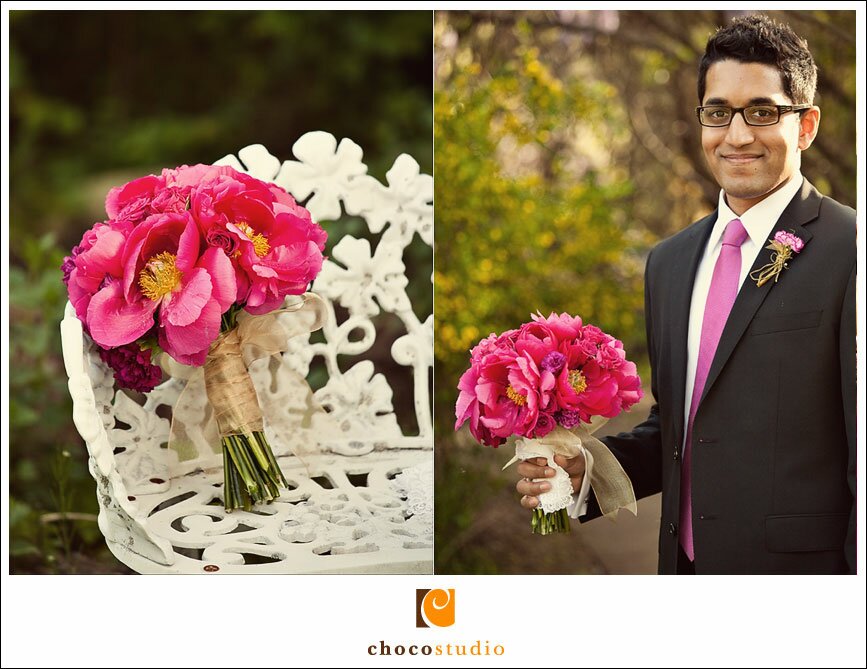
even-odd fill
[[[806,42],[763,16],[719,30],[699,66],[719,205],[647,259],[656,404],[603,440],[636,497],[662,492],[662,574],[855,573],[855,212],[800,173],[815,89]],[[780,232],[792,257],[759,286]],[[583,458],[558,463],[581,490]],[[525,508],[544,464],[518,467]],[[598,515],[591,494],[582,520]]]

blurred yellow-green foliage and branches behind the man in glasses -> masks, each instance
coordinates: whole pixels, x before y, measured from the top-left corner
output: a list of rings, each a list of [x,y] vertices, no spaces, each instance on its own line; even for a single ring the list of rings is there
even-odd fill
[[[453,431],[458,379],[480,338],[537,310],[578,314],[623,340],[649,395],[644,261],[716,206],[693,112],[696,72],[707,38],[736,13],[437,12],[438,572],[528,564],[521,538],[504,544],[493,529],[529,531],[514,472],[500,472],[511,449]],[[821,130],[802,171],[855,206],[854,13],[770,14],[808,40],[820,68]],[[589,568],[577,542],[557,545],[564,562],[550,571]]]

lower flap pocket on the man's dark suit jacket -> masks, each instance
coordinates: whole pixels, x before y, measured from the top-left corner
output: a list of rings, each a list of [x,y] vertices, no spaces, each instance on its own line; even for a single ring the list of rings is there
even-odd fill
[[[842,550],[848,530],[848,513],[767,516],[765,544],[771,553]]]

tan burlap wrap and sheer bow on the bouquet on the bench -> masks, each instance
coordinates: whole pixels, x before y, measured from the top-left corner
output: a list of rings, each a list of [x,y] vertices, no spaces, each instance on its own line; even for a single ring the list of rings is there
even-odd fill
[[[222,437],[252,436],[253,432],[264,432],[266,425],[290,442],[295,455],[303,458],[314,454],[315,440],[301,436],[299,430],[309,425],[313,413],[323,410],[313,399],[307,381],[282,370],[284,382],[288,378],[291,388],[283,388],[283,402],[278,404],[269,393],[257,395],[248,369],[256,360],[288,350],[292,337],[321,328],[326,313],[322,298],[305,293],[289,298],[283,308],[268,314],[239,313],[237,327],[220,334],[202,367],[181,365],[163,355],[165,371],[174,378],[187,379],[173,407],[169,433],[169,448],[177,452],[179,460],[198,457],[203,447],[219,453]]]

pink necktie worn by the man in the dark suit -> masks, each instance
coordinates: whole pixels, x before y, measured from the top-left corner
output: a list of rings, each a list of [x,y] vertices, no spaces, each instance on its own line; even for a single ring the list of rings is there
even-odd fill
[[[707,373],[710,371],[719,338],[722,335],[729,312],[738,295],[741,276],[741,244],[748,235],[743,223],[734,219],[723,233],[722,249],[713,268],[713,278],[704,307],[701,324],[701,342],[698,349],[698,364],[695,368],[695,384],[689,405],[689,422],[686,427],[686,444],[683,450],[683,466],[680,470],[680,545],[690,560],[695,560],[692,543],[692,422],[698,402],[704,391]]]

